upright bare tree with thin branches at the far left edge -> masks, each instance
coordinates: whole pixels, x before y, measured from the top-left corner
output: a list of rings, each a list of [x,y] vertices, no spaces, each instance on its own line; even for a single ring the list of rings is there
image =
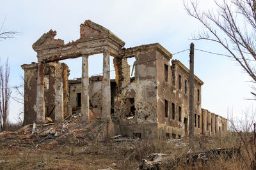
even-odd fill
[[[8,60],[4,65],[0,64],[0,123],[1,130],[8,127],[9,101],[10,101],[10,66]]]

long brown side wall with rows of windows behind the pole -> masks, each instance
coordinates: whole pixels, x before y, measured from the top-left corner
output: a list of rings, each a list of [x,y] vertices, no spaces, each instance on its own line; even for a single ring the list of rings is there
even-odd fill
[[[157,119],[159,134],[179,138],[189,134],[189,69],[179,60],[157,54]],[[195,76],[194,132],[202,132],[201,95],[202,82]],[[174,113],[174,114],[173,114]]]

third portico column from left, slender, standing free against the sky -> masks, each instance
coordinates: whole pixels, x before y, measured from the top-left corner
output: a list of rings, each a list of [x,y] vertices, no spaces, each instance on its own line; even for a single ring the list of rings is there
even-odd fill
[[[81,92],[81,122],[89,122],[89,77],[88,55],[82,59],[82,92]]]

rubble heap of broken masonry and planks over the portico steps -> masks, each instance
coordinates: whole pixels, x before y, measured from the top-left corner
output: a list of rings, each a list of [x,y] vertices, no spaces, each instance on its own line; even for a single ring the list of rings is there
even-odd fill
[[[84,140],[104,141],[109,122],[98,120],[90,111],[90,122],[81,123],[80,113],[65,118],[62,124],[29,124],[15,132],[1,132],[0,146],[23,148],[49,148],[53,145],[82,142]],[[48,120],[48,119],[46,119]],[[50,122],[50,123],[49,123]]]

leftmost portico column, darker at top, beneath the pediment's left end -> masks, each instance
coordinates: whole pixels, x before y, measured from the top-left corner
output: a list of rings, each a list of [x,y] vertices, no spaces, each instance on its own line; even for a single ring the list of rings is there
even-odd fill
[[[44,124],[44,64],[40,62],[37,67],[37,94],[36,94],[36,123]]]

